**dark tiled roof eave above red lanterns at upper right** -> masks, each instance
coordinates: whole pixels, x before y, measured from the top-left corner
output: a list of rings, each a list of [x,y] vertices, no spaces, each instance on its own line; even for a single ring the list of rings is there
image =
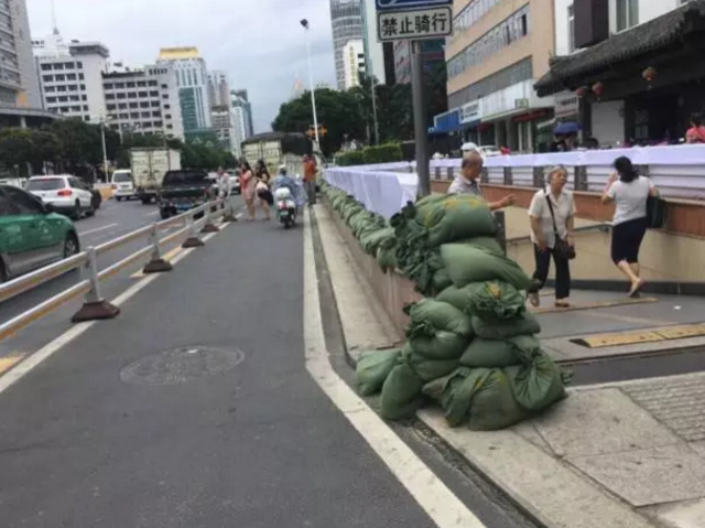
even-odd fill
[[[705,0],[694,0],[669,13],[630,30],[617,33],[584,51],[551,60],[551,69],[534,84],[539,97],[575,89],[579,82],[616,63],[632,61],[654,50],[681,42],[685,33],[696,31],[705,18]]]

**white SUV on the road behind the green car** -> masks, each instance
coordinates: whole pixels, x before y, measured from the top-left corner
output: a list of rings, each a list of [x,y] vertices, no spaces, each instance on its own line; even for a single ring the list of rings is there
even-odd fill
[[[63,213],[74,220],[79,219],[84,214],[93,216],[96,213],[88,184],[69,174],[32,176],[28,180],[24,190],[45,204],[52,204],[55,212]]]

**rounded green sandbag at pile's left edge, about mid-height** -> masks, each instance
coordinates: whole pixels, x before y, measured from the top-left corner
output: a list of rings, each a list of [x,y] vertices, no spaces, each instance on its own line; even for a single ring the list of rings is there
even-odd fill
[[[424,299],[409,305],[405,310],[410,317],[408,337],[433,337],[440,330],[466,337],[473,335],[470,317],[452,304],[434,299]]]

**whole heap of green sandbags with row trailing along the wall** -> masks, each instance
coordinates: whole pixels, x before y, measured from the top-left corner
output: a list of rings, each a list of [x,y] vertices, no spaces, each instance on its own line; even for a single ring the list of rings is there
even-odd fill
[[[365,251],[426,295],[404,308],[401,349],[370,352],[357,364],[358,390],[381,392],[383,418],[412,418],[435,403],[452,427],[492,431],[565,398],[568,376],[541,349],[541,326],[527,311],[531,279],[496,241],[481,198],[432,195],[390,226],[344,192],[324,192]]]

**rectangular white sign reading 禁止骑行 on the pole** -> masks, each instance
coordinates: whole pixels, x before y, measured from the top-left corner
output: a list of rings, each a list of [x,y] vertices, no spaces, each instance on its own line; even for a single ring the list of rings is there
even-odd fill
[[[378,11],[380,42],[440,39],[453,34],[453,9],[448,6],[413,11]]]

